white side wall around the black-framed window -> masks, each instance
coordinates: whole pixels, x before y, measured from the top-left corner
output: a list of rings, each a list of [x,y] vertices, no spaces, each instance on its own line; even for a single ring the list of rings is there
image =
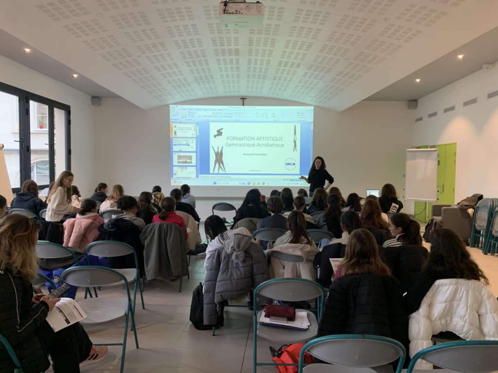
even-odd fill
[[[0,56],[0,82],[71,106],[71,169],[83,197],[91,195],[95,189],[91,97],[3,56]]]

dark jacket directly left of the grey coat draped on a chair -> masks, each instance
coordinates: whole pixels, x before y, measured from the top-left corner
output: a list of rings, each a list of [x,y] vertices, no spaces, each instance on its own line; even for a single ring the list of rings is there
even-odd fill
[[[140,228],[126,219],[111,219],[97,228],[101,234],[99,241],[118,241],[128,244],[136,251],[140,273],[144,272],[143,244],[140,241]],[[121,257],[107,258],[109,268],[136,268],[133,254]]]

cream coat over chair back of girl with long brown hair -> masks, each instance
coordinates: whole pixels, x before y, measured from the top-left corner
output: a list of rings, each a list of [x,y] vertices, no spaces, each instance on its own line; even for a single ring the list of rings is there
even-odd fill
[[[303,257],[303,262],[295,263],[271,258],[270,279],[298,278],[315,281],[313,259],[318,254],[316,248],[304,244],[284,244],[266,250],[266,258],[274,251],[301,256]]]

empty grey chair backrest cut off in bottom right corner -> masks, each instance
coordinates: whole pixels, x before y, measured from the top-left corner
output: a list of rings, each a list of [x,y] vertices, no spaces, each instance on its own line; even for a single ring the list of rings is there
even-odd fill
[[[428,347],[412,358],[406,373],[412,372],[418,359],[457,372],[495,372],[498,370],[498,341],[456,341]]]

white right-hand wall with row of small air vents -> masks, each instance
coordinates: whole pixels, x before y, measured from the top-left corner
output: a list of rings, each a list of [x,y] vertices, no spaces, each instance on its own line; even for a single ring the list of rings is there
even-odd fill
[[[455,202],[474,193],[498,197],[498,97],[487,98],[497,82],[498,66],[480,70],[420,99],[411,119],[424,117],[414,123],[413,146],[457,143]],[[475,97],[476,104],[463,107]],[[453,105],[455,111],[443,114]]]

